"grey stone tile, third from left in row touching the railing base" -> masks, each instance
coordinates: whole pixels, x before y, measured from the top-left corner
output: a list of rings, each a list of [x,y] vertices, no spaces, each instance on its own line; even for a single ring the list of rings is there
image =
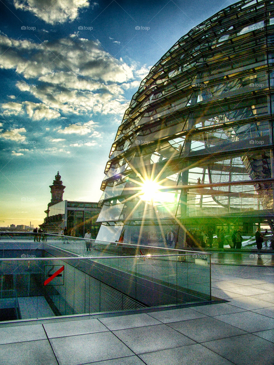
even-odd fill
[[[100,321],[111,331],[161,324],[159,320],[152,318],[146,313],[100,318]]]

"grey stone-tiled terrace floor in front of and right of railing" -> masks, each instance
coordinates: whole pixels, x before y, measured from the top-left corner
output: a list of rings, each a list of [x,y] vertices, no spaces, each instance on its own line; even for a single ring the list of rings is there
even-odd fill
[[[227,303],[0,327],[0,365],[273,365],[274,270],[212,265]]]

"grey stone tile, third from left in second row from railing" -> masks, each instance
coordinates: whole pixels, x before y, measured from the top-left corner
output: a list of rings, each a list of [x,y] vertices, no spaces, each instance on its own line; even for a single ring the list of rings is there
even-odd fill
[[[119,330],[114,334],[136,354],[195,343],[166,324]]]

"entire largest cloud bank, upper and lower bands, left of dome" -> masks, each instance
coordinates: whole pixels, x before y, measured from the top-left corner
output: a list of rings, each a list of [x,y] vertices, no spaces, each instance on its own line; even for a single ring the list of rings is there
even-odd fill
[[[43,43],[0,34],[0,54],[0,68],[13,69],[33,82],[17,82],[18,89],[24,92],[21,95],[27,99],[29,93],[41,101],[25,101],[24,107],[16,103],[17,109],[5,108],[6,115],[19,114],[23,108],[35,120],[60,118],[61,113],[122,116],[129,105],[124,90],[138,87],[140,81],[134,79],[148,71],[112,57],[99,41],[75,34]]]

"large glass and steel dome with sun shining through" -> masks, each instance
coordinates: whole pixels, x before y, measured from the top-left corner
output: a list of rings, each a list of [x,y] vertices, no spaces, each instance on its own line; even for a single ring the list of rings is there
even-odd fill
[[[180,38],[133,95],[97,239],[164,246],[172,230],[183,247],[190,228],[273,231],[273,108],[274,1],[239,1]]]

